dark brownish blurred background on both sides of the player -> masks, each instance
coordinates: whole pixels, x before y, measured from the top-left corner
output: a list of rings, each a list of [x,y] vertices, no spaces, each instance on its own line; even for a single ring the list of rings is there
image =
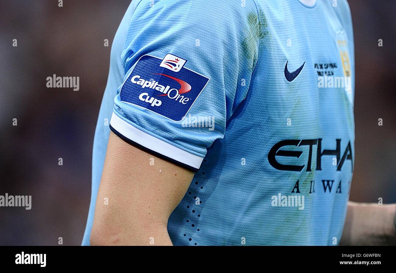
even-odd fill
[[[57,245],[59,237],[79,245],[110,47],[130,1],[0,2],[0,195],[32,195],[31,210],[0,207],[0,245]],[[396,202],[396,1],[348,2],[356,59],[350,200]],[[53,74],[79,76],[80,90],[47,88]]]

